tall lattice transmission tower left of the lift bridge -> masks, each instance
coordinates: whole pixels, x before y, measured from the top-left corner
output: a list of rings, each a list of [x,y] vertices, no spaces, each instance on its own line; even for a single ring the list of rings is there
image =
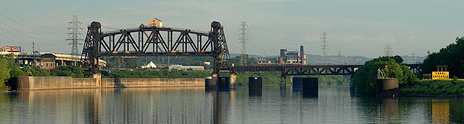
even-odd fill
[[[72,16],[72,21],[69,22],[69,24],[70,28],[68,28],[68,30],[70,32],[68,34],[71,37],[66,39],[66,41],[71,41],[71,43],[68,43],[68,45],[71,45],[71,59],[73,61],[72,64],[76,65],[76,61],[78,60],[77,56],[79,55],[77,45],[82,45],[82,43],[79,43],[79,41],[83,41],[83,39],[80,38],[82,35],[81,30],[83,30],[83,28],[81,27],[81,21],[77,20],[77,15]]]

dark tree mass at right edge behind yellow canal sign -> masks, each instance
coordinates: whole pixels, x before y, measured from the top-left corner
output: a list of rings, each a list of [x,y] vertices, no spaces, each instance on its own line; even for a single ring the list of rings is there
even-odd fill
[[[464,78],[464,37],[457,37],[456,43],[441,48],[440,52],[429,54],[421,65],[424,73],[431,73],[436,70],[436,65],[448,65],[447,71],[450,76]]]

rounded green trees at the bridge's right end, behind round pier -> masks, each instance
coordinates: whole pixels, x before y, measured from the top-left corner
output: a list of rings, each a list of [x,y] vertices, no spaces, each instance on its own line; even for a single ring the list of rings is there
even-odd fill
[[[375,82],[379,69],[388,78],[398,78],[400,86],[418,81],[416,75],[406,65],[400,65],[398,62],[403,62],[401,56],[383,56],[365,62],[364,66],[354,74],[356,92],[375,94]]]

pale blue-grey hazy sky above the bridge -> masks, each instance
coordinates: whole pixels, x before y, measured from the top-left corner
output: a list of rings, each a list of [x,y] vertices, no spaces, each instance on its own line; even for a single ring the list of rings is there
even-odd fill
[[[83,23],[82,38],[92,21],[137,28],[156,17],[163,26],[202,31],[219,21],[231,53],[241,53],[239,25],[246,21],[247,54],[278,55],[281,48],[300,45],[307,54],[322,54],[321,34],[327,32],[327,55],[377,57],[390,45],[392,54],[425,56],[464,36],[462,5],[462,0],[2,0],[0,45],[29,52],[34,42],[41,52],[70,53],[65,39],[72,15]]]

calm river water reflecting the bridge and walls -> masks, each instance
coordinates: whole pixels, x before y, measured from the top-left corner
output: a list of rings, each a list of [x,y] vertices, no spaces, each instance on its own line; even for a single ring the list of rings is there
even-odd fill
[[[464,99],[359,97],[346,85],[318,97],[264,87],[39,90],[0,93],[0,123],[464,123]]]

